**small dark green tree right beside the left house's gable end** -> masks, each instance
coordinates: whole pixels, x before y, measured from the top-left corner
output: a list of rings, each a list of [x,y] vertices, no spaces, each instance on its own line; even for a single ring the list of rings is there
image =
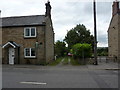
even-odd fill
[[[66,54],[66,44],[63,41],[57,41],[55,43],[55,54],[59,57],[64,56]]]

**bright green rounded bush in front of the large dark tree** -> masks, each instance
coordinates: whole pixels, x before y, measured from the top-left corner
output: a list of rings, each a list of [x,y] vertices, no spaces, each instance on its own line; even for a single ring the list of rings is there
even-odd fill
[[[91,44],[75,44],[72,48],[72,53],[74,55],[74,57],[77,57],[77,58],[87,58],[87,57],[91,57]]]

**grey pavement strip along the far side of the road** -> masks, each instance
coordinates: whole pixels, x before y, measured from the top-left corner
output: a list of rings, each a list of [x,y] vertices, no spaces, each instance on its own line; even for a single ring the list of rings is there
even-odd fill
[[[72,69],[73,67],[81,68],[81,69],[101,69],[101,70],[120,70],[120,66],[117,62],[108,62],[106,63],[104,60],[98,61],[98,65],[80,65],[80,66],[72,66],[70,64],[68,65],[62,65],[62,62],[64,59],[57,65],[57,66],[40,66],[40,65],[2,65],[3,68],[33,68],[33,69],[53,69],[53,67],[56,67],[56,69],[60,69],[59,67],[63,67],[66,69]],[[67,66],[67,67],[66,67]]]

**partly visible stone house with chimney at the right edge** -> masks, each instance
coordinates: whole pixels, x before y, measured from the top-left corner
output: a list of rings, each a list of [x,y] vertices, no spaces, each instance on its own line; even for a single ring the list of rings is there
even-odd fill
[[[108,28],[109,57],[120,59],[120,3],[113,2],[112,19]]]

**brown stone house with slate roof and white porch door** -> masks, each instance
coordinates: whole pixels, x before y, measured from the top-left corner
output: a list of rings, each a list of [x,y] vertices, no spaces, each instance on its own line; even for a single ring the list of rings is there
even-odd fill
[[[2,63],[44,64],[54,60],[51,5],[45,15],[3,17]]]

